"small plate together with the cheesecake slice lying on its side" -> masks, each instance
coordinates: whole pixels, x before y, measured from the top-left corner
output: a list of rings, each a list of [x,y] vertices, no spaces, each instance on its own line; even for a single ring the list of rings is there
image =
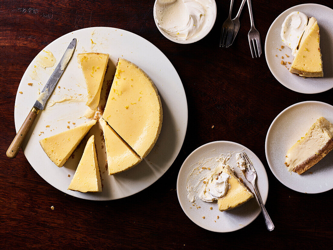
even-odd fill
[[[333,106],[318,101],[283,110],[268,129],[265,151],[275,177],[302,193],[333,188]]]

